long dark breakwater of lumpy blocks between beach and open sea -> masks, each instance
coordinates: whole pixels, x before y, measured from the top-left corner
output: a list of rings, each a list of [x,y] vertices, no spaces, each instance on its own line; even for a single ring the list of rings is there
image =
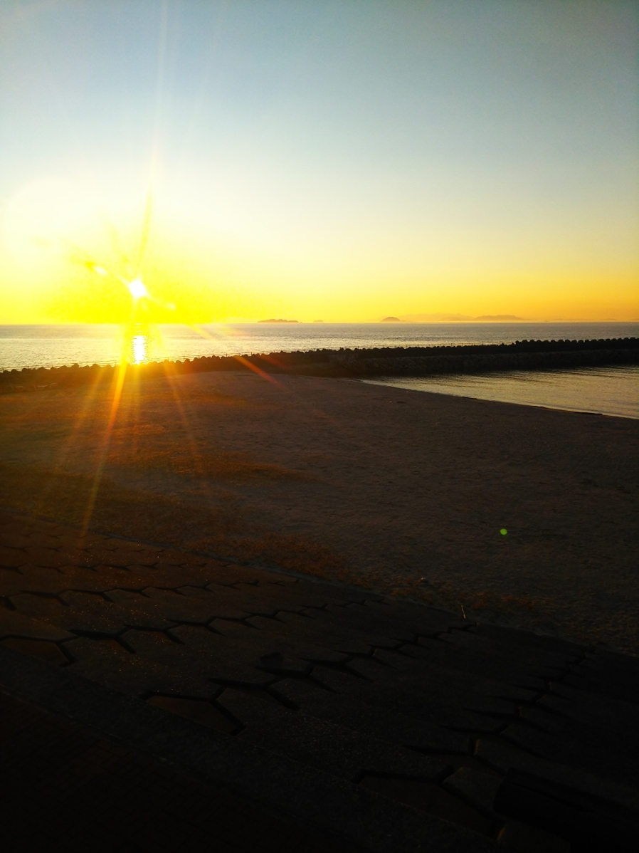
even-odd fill
[[[374,349],[272,352],[246,356],[204,356],[184,361],[129,365],[132,378],[214,371],[285,373],[307,376],[429,376],[496,370],[544,370],[639,364],[639,338],[520,340],[514,344],[395,346]],[[108,380],[117,365],[23,368],[0,372],[0,390],[33,391]]]

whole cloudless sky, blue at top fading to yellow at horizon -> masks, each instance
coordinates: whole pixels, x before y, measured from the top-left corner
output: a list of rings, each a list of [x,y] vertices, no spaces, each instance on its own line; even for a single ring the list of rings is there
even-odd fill
[[[638,22],[3,0],[0,322],[639,317]]]

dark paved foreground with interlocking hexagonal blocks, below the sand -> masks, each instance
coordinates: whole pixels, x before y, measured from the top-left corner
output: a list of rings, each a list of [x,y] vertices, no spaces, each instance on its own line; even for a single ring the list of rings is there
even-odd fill
[[[9,514],[0,596],[13,850],[634,847],[637,659]]]

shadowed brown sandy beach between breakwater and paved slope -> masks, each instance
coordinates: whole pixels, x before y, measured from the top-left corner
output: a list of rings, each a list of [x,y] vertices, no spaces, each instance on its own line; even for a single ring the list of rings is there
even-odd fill
[[[113,394],[3,395],[4,508],[639,653],[636,421],[291,376]]]

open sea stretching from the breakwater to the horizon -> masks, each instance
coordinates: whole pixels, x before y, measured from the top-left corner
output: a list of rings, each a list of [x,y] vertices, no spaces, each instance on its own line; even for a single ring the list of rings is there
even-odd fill
[[[142,360],[339,347],[501,344],[523,339],[625,338],[639,323],[243,323],[140,329]],[[119,326],[0,326],[0,370],[115,364],[130,351]]]

